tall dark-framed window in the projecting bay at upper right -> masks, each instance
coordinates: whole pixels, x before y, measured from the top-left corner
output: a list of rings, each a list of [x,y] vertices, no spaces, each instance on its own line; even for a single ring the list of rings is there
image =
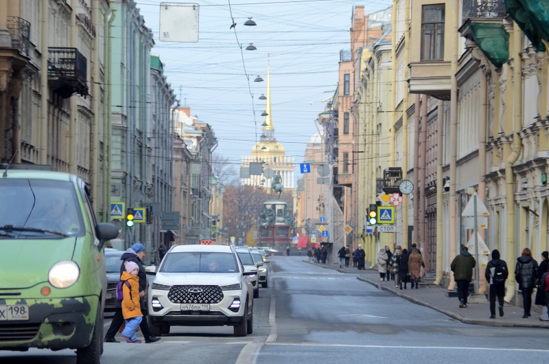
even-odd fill
[[[444,4],[423,5],[421,60],[444,59]]]

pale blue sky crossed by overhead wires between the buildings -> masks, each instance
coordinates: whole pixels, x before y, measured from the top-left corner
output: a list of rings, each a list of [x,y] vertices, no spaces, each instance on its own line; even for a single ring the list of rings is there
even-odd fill
[[[229,6],[228,0],[194,1],[200,5],[198,43],[172,43],[159,41],[161,1],[136,2],[154,33],[151,52],[160,55],[181,105],[213,127],[219,143],[215,152],[229,157],[235,166],[240,166],[242,155],[250,155],[261,135],[265,102],[258,98],[266,93],[268,54],[274,136],[286,156],[299,163],[307,141],[317,133],[314,120],[324,111],[322,100],[337,87],[339,51],[350,48],[353,5],[364,5],[370,14],[392,4],[390,0],[232,0]],[[229,29],[231,12],[238,42]],[[244,25],[250,16],[257,26]],[[257,50],[246,50],[249,43]],[[265,82],[254,82],[257,76]]]

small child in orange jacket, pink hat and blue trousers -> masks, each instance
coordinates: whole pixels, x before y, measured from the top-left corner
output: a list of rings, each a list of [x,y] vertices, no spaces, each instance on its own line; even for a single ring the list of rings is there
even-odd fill
[[[122,273],[120,280],[128,283],[122,284],[122,293],[124,299],[122,299],[122,315],[126,320],[126,327],[122,331],[121,335],[126,339],[127,343],[140,344],[141,340],[137,340],[135,330],[139,327],[139,323],[143,321],[143,314],[141,313],[141,300],[139,297],[139,266],[135,262],[128,261],[125,264],[126,271]]]

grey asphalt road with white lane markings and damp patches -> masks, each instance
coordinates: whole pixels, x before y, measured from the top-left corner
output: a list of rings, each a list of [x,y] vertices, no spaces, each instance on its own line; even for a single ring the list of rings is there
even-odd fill
[[[549,330],[466,325],[355,274],[271,259],[269,288],[254,301],[254,333],[172,328],[158,343],[106,343],[102,364],[532,363],[546,362]],[[108,319],[106,319],[108,326]],[[544,359],[545,358],[545,359]],[[71,350],[0,352],[0,362],[73,364]]]

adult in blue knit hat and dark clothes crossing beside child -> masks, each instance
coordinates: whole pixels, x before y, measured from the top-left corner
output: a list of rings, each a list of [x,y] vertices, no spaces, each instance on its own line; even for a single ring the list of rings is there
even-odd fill
[[[145,257],[145,247],[143,247],[143,244],[140,242],[136,242],[135,244],[130,247],[130,249],[126,250],[126,252],[121,256],[120,260],[122,260],[120,265],[120,275],[126,271],[126,266],[124,263],[130,261],[137,264],[139,267],[139,273],[137,273],[137,276],[139,277],[139,297],[140,299],[140,306],[141,306],[141,313],[143,314],[143,319],[141,323],[139,324],[139,328],[141,328],[141,333],[143,334],[143,337],[145,337],[145,343],[154,343],[155,341],[159,341],[161,338],[155,337],[152,334],[152,331],[149,328],[149,325],[147,323],[147,306],[145,304],[145,300],[143,299],[145,297],[145,292],[147,291],[147,276],[145,275],[145,269],[141,265],[141,260]],[[113,317],[113,321],[110,321],[110,328],[108,328],[107,333],[105,334],[105,342],[106,343],[119,343],[115,339],[115,335],[118,332],[118,329],[120,326],[122,326],[122,323],[124,322],[124,314],[122,312],[122,306],[119,301],[115,301],[116,311],[115,316]]]

